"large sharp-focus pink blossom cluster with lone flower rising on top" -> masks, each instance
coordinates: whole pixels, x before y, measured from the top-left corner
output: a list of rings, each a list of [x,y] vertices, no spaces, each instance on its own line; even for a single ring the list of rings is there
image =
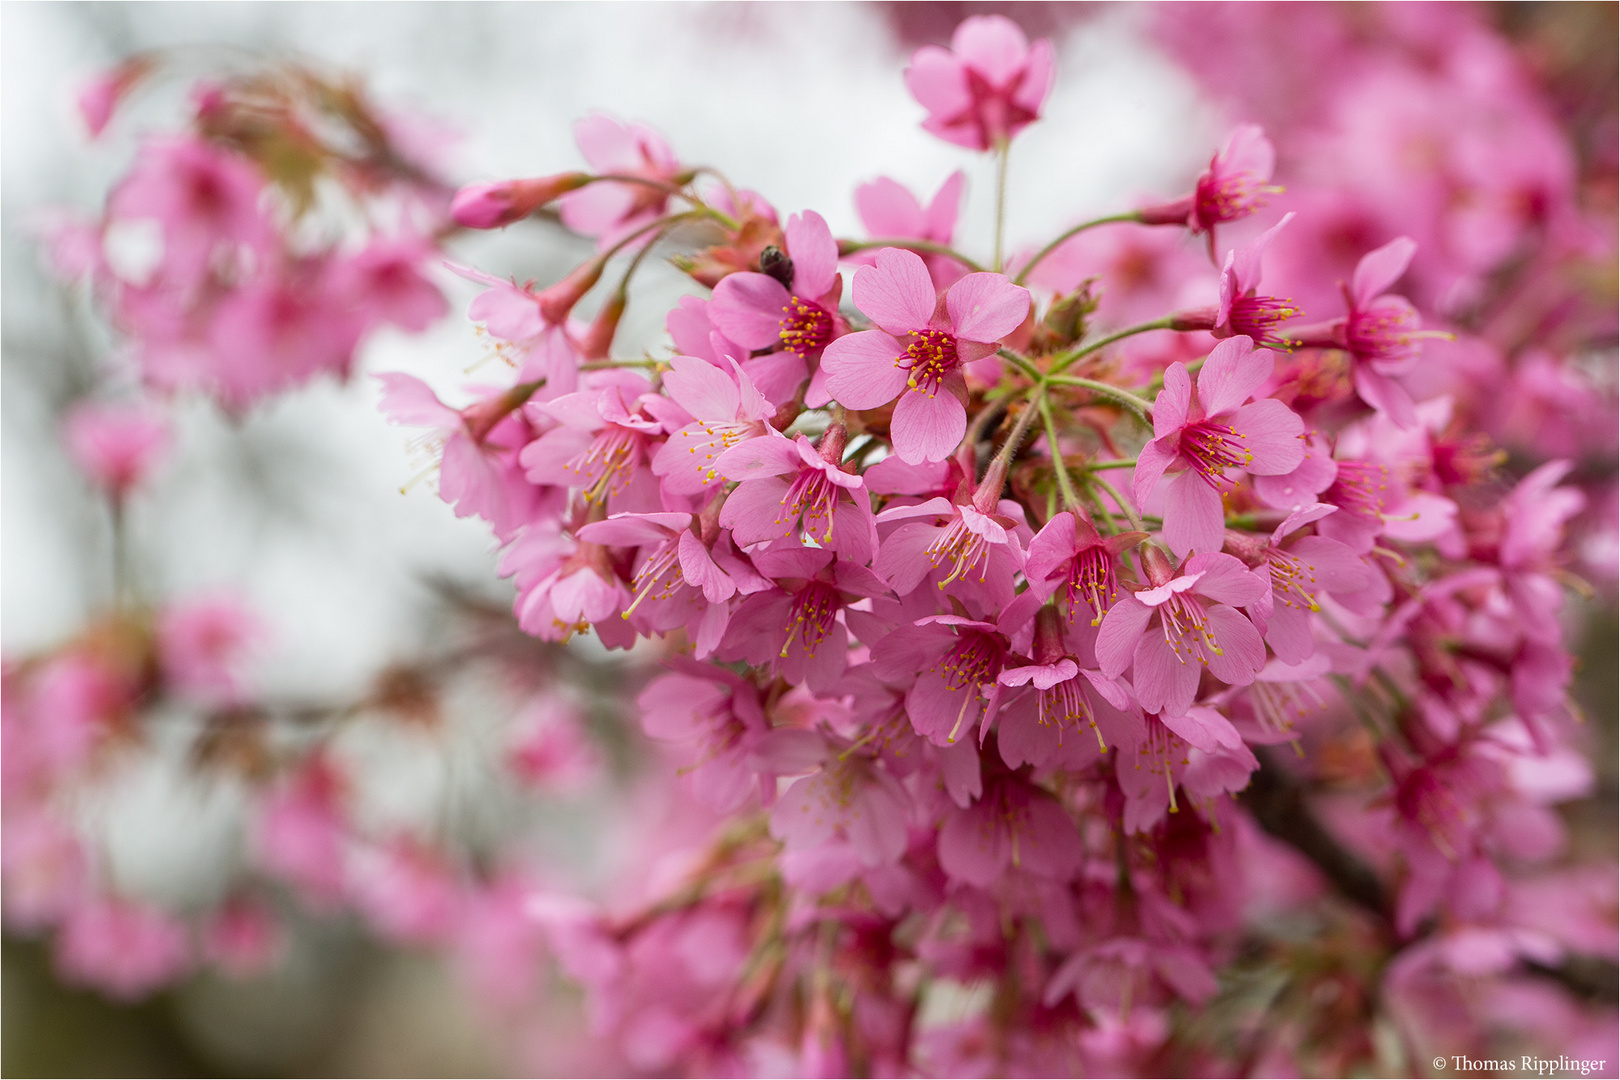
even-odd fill
[[[1004,168],[1053,50],[977,16],[906,81]],[[1009,259],[998,222],[988,264],[953,248],[961,175],[863,185],[870,238],[838,238],[640,125],[577,138],[590,172],[455,199],[596,240],[548,287],[460,269],[512,384],[381,379],[526,633],[659,643],[642,725],[727,819],[645,904],[531,904],[632,1067],[1341,1072],[1380,994],[1406,1052],[1434,1014],[1534,1036],[1464,975],[1589,1030],[1560,965],[1612,959],[1614,892],[1554,913],[1536,870],[1591,785],[1560,622],[1584,495],[1565,460],[1505,476],[1429,392],[1466,366],[1403,291],[1413,236],[1369,230],[1320,306],[1280,295],[1312,210],[1252,228],[1281,194],[1252,125],[1179,199]],[[703,291],[617,356],[659,243]],[[1254,918],[1325,887],[1359,907],[1309,946]],[[1343,1022],[1278,1004],[1231,1057],[1192,1017],[1259,1023],[1256,950]]]

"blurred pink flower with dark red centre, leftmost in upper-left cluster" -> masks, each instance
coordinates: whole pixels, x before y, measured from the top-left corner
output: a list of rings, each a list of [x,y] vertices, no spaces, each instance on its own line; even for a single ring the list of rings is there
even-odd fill
[[[274,233],[261,199],[266,183],[241,157],[193,138],[151,139],[107,202],[112,219],[156,219],[164,230],[162,279],[196,288],[215,253],[238,246],[271,257]]]

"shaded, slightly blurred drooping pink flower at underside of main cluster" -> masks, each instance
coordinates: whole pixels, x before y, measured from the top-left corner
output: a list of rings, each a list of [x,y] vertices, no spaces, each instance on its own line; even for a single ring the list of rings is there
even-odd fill
[[[940,827],[940,866],[980,889],[1008,868],[1069,881],[1082,858],[1081,831],[1063,805],[1011,776],[987,784],[977,803],[953,810]]]

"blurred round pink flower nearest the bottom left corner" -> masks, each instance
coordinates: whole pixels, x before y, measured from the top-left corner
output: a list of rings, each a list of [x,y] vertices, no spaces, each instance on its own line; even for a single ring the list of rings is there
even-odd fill
[[[87,900],[57,938],[57,973],[63,981],[123,1001],[144,997],[190,967],[185,926],[134,900]]]

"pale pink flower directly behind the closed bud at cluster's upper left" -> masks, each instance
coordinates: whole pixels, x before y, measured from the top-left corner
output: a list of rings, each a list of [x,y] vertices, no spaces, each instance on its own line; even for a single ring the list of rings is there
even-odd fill
[[[595,236],[596,249],[606,251],[664,214],[667,188],[682,168],[663,136],[638,123],[591,113],[573,125],[573,141],[598,173],[638,176],[646,183],[598,181],[569,191],[557,207],[564,225]]]

